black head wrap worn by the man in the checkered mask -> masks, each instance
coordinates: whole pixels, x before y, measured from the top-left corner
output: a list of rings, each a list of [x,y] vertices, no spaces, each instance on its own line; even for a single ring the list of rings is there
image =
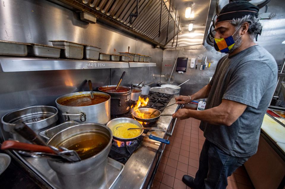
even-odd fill
[[[217,17],[217,23],[232,21],[234,18],[242,18],[248,14],[258,16],[259,8],[247,1],[233,1],[221,10]]]

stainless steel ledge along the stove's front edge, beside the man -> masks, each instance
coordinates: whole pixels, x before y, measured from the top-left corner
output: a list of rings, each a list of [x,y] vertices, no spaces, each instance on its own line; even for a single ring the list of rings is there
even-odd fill
[[[168,104],[175,103],[175,96],[172,97]],[[173,114],[179,108],[178,105],[172,105],[167,107],[162,114]],[[171,116],[161,116],[156,122],[154,127],[163,127],[170,129],[172,125]],[[148,135],[155,135],[161,138],[166,136],[165,131],[151,131],[148,132]],[[143,188],[148,173],[151,170],[153,161],[155,161],[156,154],[162,143],[151,140],[149,138],[144,138],[142,145],[132,154],[125,164],[124,170],[121,173],[121,176],[114,183],[112,189],[115,188]]]

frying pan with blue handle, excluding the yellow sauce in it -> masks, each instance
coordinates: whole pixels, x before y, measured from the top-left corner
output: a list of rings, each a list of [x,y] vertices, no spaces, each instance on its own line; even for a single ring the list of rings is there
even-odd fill
[[[145,137],[148,137],[152,140],[156,140],[156,141],[159,141],[159,142],[162,142],[162,143],[165,143],[165,144],[169,144],[170,141],[169,140],[165,140],[163,138],[159,138],[159,137],[156,137],[156,136],[153,136],[153,135],[145,135],[143,133],[143,129],[140,131],[140,134],[134,138],[119,138],[119,137],[116,137],[114,135],[114,129],[116,127],[116,125],[118,125],[119,123],[133,123],[135,125],[137,125],[138,127],[140,128],[143,128],[143,125],[140,124],[138,121],[132,119],[132,118],[127,118],[127,117],[119,117],[119,118],[115,118],[115,119],[112,119],[111,121],[109,121],[107,123],[107,127],[109,127],[113,133],[113,139],[115,140],[119,140],[119,141],[132,141],[132,140],[136,140],[137,138],[139,138],[141,135],[145,136]]]

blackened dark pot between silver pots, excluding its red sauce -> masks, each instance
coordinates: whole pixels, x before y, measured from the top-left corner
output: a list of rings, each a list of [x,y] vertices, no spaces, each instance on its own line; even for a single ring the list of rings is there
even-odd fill
[[[116,85],[107,85],[99,87],[98,90],[107,93],[111,96],[111,115],[121,115],[130,111],[131,109],[131,88],[119,86],[119,88],[127,89],[126,92],[106,92],[107,88],[114,88]]]

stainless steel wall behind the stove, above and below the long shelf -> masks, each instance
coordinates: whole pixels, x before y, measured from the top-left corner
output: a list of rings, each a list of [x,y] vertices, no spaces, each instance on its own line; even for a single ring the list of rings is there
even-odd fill
[[[124,69],[124,83],[158,79],[162,49],[100,22],[88,24],[79,14],[45,0],[11,0],[0,4],[0,40],[52,45],[49,40],[68,40],[101,47],[100,52],[130,52],[153,56],[156,67]],[[112,74],[111,74],[112,73]],[[36,72],[0,71],[0,117],[15,109],[33,105],[55,105],[55,99],[73,91],[87,91],[84,80],[93,87],[116,83],[120,69],[58,70]],[[114,82],[111,77],[114,75]],[[159,79],[158,79],[159,80]],[[128,82],[126,82],[128,81]],[[81,83],[83,86],[80,87]]]

